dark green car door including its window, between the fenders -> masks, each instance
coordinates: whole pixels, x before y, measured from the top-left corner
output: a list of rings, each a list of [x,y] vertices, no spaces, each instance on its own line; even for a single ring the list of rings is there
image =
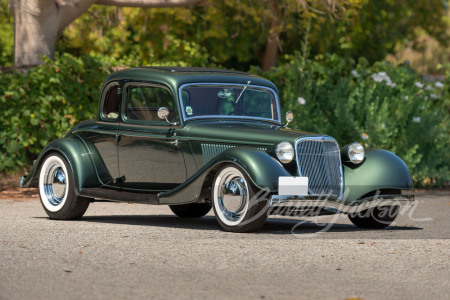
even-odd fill
[[[124,86],[123,122],[119,127],[119,173],[127,190],[166,191],[186,180],[179,127],[158,117],[169,109],[169,121],[178,119],[169,88],[150,83]]]

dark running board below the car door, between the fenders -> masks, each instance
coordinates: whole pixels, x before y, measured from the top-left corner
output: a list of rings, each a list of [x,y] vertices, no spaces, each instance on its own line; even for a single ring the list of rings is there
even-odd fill
[[[114,189],[84,188],[81,189],[80,196],[117,202],[159,204],[158,194],[131,193]]]

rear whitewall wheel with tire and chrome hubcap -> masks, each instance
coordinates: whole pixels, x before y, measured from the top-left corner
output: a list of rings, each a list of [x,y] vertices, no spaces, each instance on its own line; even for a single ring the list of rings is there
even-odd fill
[[[39,172],[39,197],[50,219],[74,220],[86,212],[90,199],[75,194],[72,170],[59,154],[47,156]]]

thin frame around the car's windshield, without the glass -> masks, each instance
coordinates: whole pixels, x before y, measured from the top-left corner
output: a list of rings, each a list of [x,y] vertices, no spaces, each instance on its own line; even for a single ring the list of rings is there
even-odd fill
[[[262,86],[262,85],[253,85],[253,84],[249,84],[248,87],[254,87],[254,88],[259,88],[259,89],[265,89],[270,91],[274,96],[275,96],[275,101],[277,103],[276,105],[276,109],[277,109],[277,115],[278,115],[278,120],[275,119],[268,119],[268,118],[261,118],[261,117],[252,117],[252,116],[227,116],[227,115],[205,115],[205,116],[195,116],[195,117],[187,117],[186,116],[186,112],[185,112],[185,107],[183,106],[183,97],[182,97],[182,91],[183,88],[190,86],[190,85],[219,85],[219,86],[242,86],[244,87],[246,85],[242,84],[242,83],[220,83],[220,82],[191,82],[191,83],[185,83],[183,85],[181,85],[178,88],[178,103],[180,105],[180,111],[181,111],[181,116],[183,117],[183,122],[186,121],[190,121],[190,120],[196,120],[196,119],[239,119],[239,120],[258,120],[258,121],[265,121],[265,122],[271,122],[271,123],[276,123],[276,124],[281,124],[281,108],[280,108],[280,99],[278,97],[278,93],[267,86]],[[247,87],[247,88],[248,88]]]

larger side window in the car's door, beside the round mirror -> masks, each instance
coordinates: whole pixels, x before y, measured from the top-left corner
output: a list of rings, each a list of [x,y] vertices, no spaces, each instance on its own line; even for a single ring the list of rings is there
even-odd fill
[[[173,97],[170,91],[158,86],[129,86],[127,89],[126,116],[130,120],[161,121],[158,109],[169,109],[169,121],[173,120]]]

